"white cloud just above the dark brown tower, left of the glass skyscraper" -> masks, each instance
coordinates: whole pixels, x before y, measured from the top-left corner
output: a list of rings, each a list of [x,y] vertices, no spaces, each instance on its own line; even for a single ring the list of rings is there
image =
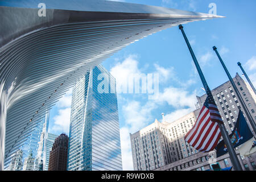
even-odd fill
[[[63,131],[64,133],[69,133],[69,122],[70,122],[71,108],[60,109],[58,114],[53,117],[54,125],[52,127],[53,131]]]

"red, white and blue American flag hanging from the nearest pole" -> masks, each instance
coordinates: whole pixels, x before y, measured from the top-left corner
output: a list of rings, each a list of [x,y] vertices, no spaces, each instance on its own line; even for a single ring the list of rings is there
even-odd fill
[[[221,138],[218,123],[223,123],[210,89],[195,125],[185,135],[185,140],[198,151],[212,151]]]

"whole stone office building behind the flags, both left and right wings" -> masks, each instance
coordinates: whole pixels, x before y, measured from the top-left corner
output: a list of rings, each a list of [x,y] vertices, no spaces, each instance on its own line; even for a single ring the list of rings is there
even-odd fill
[[[236,83],[243,100],[246,102],[250,114],[255,119],[256,99],[253,90],[238,74],[236,74],[236,77],[234,77],[233,80]],[[226,130],[230,134],[234,129],[239,109],[243,111],[241,104],[237,100],[237,96],[234,93],[230,81],[213,89],[212,94],[218,110],[220,111],[222,120],[224,121]],[[164,121],[164,119],[162,123],[155,120],[154,123],[137,131],[137,133],[130,134],[135,171],[154,169],[211,169],[209,165],[201,164],[204,161],[207,162],[208,158],[210,158],[208,153],[198,152],[184,140],[184,135],[196,122],[196,118],[199,115],[206,97],[206,94],[197,97],[198,102],[196,104],[196,110],[172,123],[168,123]],[[237,154],[239,154],[239,151],[237,152]],[[239,159],[243,169],[255,169],[254,161],[256,159],[256,153],[246,156],[244,159],[242,159],[239,154]],[[220,156],[216,161],[219,164],[221,163],[221,167],[229,166],[231,164],[228,154]]]

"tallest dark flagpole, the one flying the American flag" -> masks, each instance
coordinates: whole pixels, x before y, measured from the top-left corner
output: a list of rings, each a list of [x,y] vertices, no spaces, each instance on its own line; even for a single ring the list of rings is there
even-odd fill
[[[188,49],[189,49],[189,52],[191,53],[191,56],[192,56],[192,59],[196,65],[196,69],[197,69],[197,72],[199,73],[199,76],[201,78],[201,81],[204,85],[204,89],[205,91],[207,92],[208,90],[210,91],[209,89],[209,86],[207,84],[207,81],[205,80],[205,77],[203,75],[203,72],[201,71],[201,68],[200,68],[200,65],[196,59],[196,56],[188,42],[188,39],[187,39],[187,36],[185,35],[185,32],[183,30],[183,26],[180,24],[179,25],[179,28],[183,34],[183,37],[185,39],[185,42],[187,43],[187,46],[188,46]],[[228,152],[229,152],[229,156],[230,156],[230,160],[233,164],[233,167],[234,167],[234,170],[235,171],[242,171],[242,167],[241,167],[241,164],[238,160],[238,157],[237,157],[237,154],[236,154],[236,151],[234,150],[233,148],[233,145],[229,139],[229,135],[228,135],[228,132],[226,131],[225,129],[225,126],[223,125],[223,123],[218,123],[218,127],[220,128],[220,131],[221,131],[221,135],[222,135],[222,138],[224,139],[224,142],[226,144],[226,148],[228,149]]]

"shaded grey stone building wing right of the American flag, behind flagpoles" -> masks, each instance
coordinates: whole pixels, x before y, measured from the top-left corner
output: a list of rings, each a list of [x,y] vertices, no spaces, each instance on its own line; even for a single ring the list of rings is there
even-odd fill
[[[236,74],[236,77],[233,78],[233,81],[236,84],[237,89],[240,92],[242,99],[245,102],[247,108],[249,109],[250,114],[253,117],[255,122],[256,121],[256,113],[255,113],[256,97],[253,90],[251,89],[249,84],[243,81],[243,79],[238,75],[238,73]],[[234,129],[234,125],[236,123],[239,109],[241,109],[243,113],[245,113],[243,108],[241,107],[241,103],[240,101],[238,101],[238,97],[236,96],[236,93],[234,93],[234,88],[231,85],[230,81],[227,81],[224,84],[218,86],[217,88],[214,88],[212,90],[212,95],[213,95],[214,101],[216,102],[218,110],[220,111],[220,115],[224,122],[226,130],[230,134]],[[202,107],[206,97],[207,97],[206,94],[204,94],[201,97],[197,96],[197,108]],[[248,121],[247,116],[245,114],[244,116],[246,121]],[[250,123],[249,122],[247,123],[251,129]]]

